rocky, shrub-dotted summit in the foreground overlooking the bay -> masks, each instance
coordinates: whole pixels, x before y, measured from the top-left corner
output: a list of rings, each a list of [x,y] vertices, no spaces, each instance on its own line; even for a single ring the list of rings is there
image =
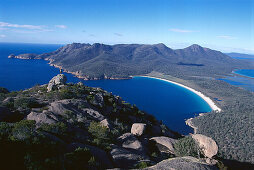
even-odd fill
[[[119,96],[66,83],[63,74],[0,94],[2,167],[217,169],[211,138],[182,136]]]

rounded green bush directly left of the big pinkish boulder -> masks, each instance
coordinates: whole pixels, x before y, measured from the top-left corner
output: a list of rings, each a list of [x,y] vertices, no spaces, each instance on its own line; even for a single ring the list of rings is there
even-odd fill
[[[174,145],[177,156],[193,156],[200,157],[200,149],[192,137],[184,137]]]

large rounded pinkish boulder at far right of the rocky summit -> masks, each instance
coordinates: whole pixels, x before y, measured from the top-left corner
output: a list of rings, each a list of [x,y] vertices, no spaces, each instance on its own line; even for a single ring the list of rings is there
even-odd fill
[[[199,148],[202,150],[206,157],[212,158],[217,154],[218,146],[212,138],[201,134],[194,134],[191,136],[197,142]]]

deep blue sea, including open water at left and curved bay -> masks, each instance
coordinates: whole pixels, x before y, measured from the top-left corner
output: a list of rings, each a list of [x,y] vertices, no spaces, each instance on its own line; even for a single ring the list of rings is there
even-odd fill
[[[54,51],[62,45],[0,43],[0,86],[9,90],[30,88],[36,84],[46,84],[59,73],[43,60],[8,59],[10,54],[44,53]],[[65,73],[68,82],[80,79]],[[83,81],[92,87],[101,87],[123,100],[136,104],[141,110],[153,114],[169,128],[182,134],[192,132],[185,125],[185,119],[197,113],[211,111],[208,104],[196,94],[177,85],[144,77],[129,80]]]

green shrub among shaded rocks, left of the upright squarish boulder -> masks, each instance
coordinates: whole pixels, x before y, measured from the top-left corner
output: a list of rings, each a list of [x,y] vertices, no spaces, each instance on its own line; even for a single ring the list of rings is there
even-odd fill
[[[108,128],[98,122],[92,121],[88,127],[88,132],[93,136],[93,143],[98,146],[108,147],[110,144],[110,133]]]

